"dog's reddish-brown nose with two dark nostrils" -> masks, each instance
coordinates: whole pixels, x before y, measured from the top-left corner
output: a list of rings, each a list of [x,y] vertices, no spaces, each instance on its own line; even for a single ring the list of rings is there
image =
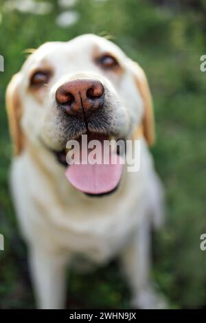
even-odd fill
[[[61,85],[56,101],[69,115],[82,115],[99,109],[104,102],[104,87],[98,80],[82,78]]]

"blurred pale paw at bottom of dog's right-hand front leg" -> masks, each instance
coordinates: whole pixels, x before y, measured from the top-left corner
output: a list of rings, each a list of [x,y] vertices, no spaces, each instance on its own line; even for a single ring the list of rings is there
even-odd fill
[[[138,291],[132,300],[132,307],[137,309],[167,309],[168,302],[152,287]]]

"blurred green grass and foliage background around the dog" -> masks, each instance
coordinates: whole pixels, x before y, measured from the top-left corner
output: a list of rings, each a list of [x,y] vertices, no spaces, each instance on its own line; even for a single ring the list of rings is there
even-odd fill
[[[5,88],[25,60],[24,49],[84,33],[111,34],[146,71],[157,124],[152,154],[167,203],[165,227],[154,236],[153,276],[171,308],[205,307],[206,252],[199,247],[200,236],[206,232],[206,74],[200,71],[200,56],[206,54],[205,2],[198,1],[199,9],[177,10],[155,1],[79,0],[73,10],[79,12],[80,20],[67,28],[55,23],[62,11],[56,1],[49,1],[54,10],[44,16],[6,12],[5,2],[0,0],[0,54],[5,58],[5,71],[0,73],[0,232],[5,235],[5,251],[0,252],[0,308],[34,307],[23,269],[25,247],[16,239],[8,188],[11,144]],[[126,308],[129,304],[116,263],[89,276],[72,272],[69,296],[68,306],[76,308]]]

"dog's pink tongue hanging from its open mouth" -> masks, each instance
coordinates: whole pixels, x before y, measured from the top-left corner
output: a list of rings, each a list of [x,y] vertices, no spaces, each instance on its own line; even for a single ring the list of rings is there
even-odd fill
[[[122,176],[122,164],[118,155],[117,163],[111,164],[73,164],[67,167],[65,176],[81,192],[102,194],[111,192],[118,185]]]

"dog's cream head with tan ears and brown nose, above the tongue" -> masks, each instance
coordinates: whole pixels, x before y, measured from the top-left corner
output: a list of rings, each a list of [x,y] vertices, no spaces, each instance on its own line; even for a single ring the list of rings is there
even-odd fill
[[[15,155],[27,145],[41,145],[65,164],[67,141],[80,140],[84,133],[93,139],[126,140],[142,128],[148,144],[154,142],[144,71],[99,36],[78,36],[36,49],[12,78],[6,101]],[[114,168],[111,181],[113,173]]]

